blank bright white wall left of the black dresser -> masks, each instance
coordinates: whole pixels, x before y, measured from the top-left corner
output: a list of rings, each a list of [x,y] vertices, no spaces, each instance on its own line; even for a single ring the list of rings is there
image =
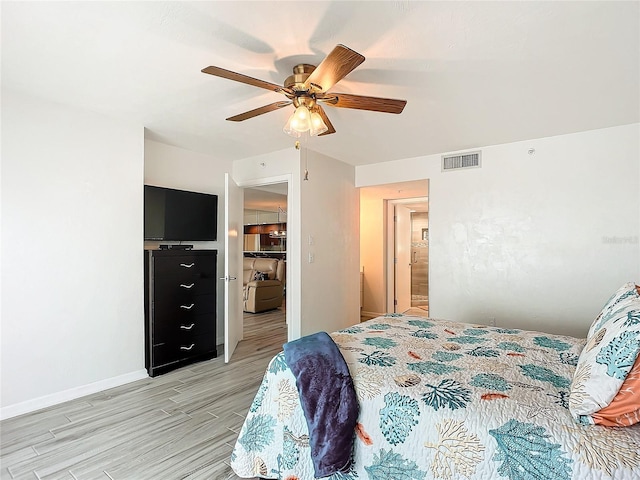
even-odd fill
[[[2,91],[1,416],[146,377],[143,128]]]

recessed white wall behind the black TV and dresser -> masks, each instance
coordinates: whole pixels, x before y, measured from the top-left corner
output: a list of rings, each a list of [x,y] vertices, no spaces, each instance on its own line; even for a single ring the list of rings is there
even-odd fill
[[[194,248],[218,251],[218,276],[224,276],[224,174],[231,173],[232,162],[192,152],[153,140],[144,142],[144,183],[161,187],[218,195],[218,240],[189,242]],[[147,248],[159,243],[144,242]],[[223,283],[218,282],[216,343],[224,343]]]

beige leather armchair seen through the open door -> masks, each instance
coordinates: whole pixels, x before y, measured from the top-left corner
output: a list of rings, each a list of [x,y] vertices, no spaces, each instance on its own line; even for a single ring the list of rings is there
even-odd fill
[[[285,265],[282,260],[245,257],[243,270],[245,312],[264,312],[282,305],[285,286]],[[260,276],[265,280],[256,280]]]

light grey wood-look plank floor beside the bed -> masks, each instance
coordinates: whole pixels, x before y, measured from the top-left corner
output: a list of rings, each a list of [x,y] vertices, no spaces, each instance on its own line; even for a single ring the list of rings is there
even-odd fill
[[[245,413],[286,342],[284,312],[246,314],[218,358],[0,423],[0,478],[227,480]]]

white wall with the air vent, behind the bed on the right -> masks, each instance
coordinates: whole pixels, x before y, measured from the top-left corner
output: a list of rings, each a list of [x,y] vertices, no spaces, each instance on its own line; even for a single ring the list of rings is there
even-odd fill
[[[356,184],[430,179],[431,316],[584,336],[640,283],[639,140],[633,124],[483,147],[465,171],[439,155],[359,166]]]

